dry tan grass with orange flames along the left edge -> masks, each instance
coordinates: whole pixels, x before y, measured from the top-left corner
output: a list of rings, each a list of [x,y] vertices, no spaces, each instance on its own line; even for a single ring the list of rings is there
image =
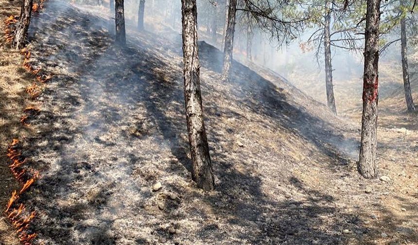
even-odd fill
[[[14,38],[16,23],[18,21],[16,13],[18,13],[19,3],[17,2],[16,6],[13,7],[14,3],[6,3],[5,1],[0,0],[0,4],[2,6],[11,6],[9,13],[6,13],[5,11],[0,12],[0,18],[4,19],[3,25],[1,25],[1,28],[4,30],[4,44],[11,44]],[[32,9],[34,16],[36,16],[42,8],[43,0],[39,3],[35,3]],[[6,15],[7,17],[3,17],[3,15]],[[21,91],[25,90],[30,98],[35,100],[45,87],[45,82],[51,79],[52,76],[46,74],[41,67],[34,66],[30,60],[32,53],[29,48],[24,48],[19,52],[23,54],[23,64],[19,65],[21,59],[20,56],[17,55],[17,52],[4,45],[0,45],[0,47],[0,72],[4,74],[0,79],[0,92],[2,95],[2,101],[0,104],[0,142],[4,142],[7,138],[12,138],[12,136],[16,137],[22,133],[25,135],[26,131],[23,130],[23,128],[20,128],[19,124],[29,126],[30,124],[27,121],[33,118],[40,111],[40,109],[35,105],[24,107],[26,102]],[[19,68],[21,66],[23,66],[27,72],[35,76],[35,83],[30,85],[28,80],[22,79],[20,75],[18,75],[21,73]],[[24,89],[24,87],[27,88]],[[4,96],[2,93],[5,93]],[[20,117],[20,120],[18,120],[18,111],[23,111],[25,113],[25,115]],[[25,193],[28,192],[34,185],[35,181],[39,178],[39,174],[38,172],[25,166],[28,163],[28,160],[22,156],[19,143],[20,142],[17,139],[12,140],[7,147],[7,154],[4,158],[1,156],[0,161],[2,163],[1,165],[3,165],[3,162],[7,161],[5,158],[8,158],[10,161],[8,164],[9,173],[11,173],[17,179],[17,182],[20,183],[20,187],[10,183],[7,185],[1,185],[1,189],[3,189],[3,186],[8,186],[9,189],[15,189],[11,192],[12,194],[8,199],[7,204],[5,204],[5,215],[8,223],[15,229],[15,232],[13,232],[14,234],[12,234],[11,229],[5,225],[7,222],[4,222],[4,219],[1,220],[0,223],[0,234],[2,238],[5,238],[1,239],[0,243],[5,245],[17,244],[17,240],[22,245],[30,245],[36,237],[36,234],[30,231],[30,223],[35,218],[36,213],[34,211],[27,211],[25,205],[18,202],[20,197],[25,195]],[[1,148],[4,149],[3,147],[4,143],[1,143]],[[1,177],[7,178],[8,174],[6,169],[1,168],[0,170]],[[2,178],[0,178],[0,181],[5,182]]]

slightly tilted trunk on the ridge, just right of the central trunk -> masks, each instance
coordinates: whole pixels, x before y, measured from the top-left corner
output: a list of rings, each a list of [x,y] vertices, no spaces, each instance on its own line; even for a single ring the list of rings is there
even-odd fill
[[[237,12],[237,0],[229,0],[228,18],[226,19],[226,33],[224,45],[224,67],[222,80],[229,79],[232,67],[232,52],[234,48],[235,15]]]

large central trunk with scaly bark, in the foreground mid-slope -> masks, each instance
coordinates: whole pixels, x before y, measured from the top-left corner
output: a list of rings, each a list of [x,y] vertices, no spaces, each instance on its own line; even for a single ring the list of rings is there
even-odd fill
[[[200,93],[200,65],[197,47],[196,0],[181,0],[183,27],[183,74],[187,130],[192,153],[192,178],[204,190],[214,189]]]

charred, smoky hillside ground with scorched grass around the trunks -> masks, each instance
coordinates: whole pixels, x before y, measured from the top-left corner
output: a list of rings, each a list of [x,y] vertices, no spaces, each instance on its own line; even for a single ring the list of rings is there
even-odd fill
[[[20,200],[37,213],[34,244],[418,244],[417,114],[381,114],[388,178],[366,180],[356,170],[358,108],[335,117],[254,64],[234,62],[222,83],[222,53],[200,42],[216,184],[203,192],[190,175],[181,37],[127,21],[128,47],[116,47],[103,10],[51,0],[33,18],[31,64],[53,75],[36,99],[23,96],[34,77],[22,58],[1,46],[10,60],[0,66],[10,72],[1,129],[14,125],[1,131],[1,150],[18,137],[25,168],[40,172]],[[25,105],[40,111],[23,127]],[[17,184],[1,157],[4,207]],[[13,244],[7,225],[0,232],[0,244]]]

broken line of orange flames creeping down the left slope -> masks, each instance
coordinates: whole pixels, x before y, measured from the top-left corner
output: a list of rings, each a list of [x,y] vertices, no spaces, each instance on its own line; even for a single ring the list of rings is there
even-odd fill
[[[44,0],[40,0],[39,4],[34,3],[32,7],[32,11],[35,14],[39,13],[39,9],[43,8]],[[17,22],[17,18],[15,16],[10,16],[9,18],[6,18],[4,20],[4,23],[6,24],[4,36],[6,39],[6,43],[11,43],[14,39],[14,32],[10,28],[11,24],[14,24]],[[29,61],[31,57],[31,52],[29,49],[24,48],[21,50],[21,53],[24,55],[24,61],[23,61],[23,68],[25,68],[30,73],[36,75],[36,80],[40,83],[45,83],[49,79],[52,78],[51,75],[42,75],[39,72],[41,71],[41,68],[34,69]],[[32,97],[36,98],[41,92],[42,89],[36,85],[35,83],[32,86],[29,86],[26,88],[26,92]],[[38,112],[39,109],[35,106],[28,106],[26,107],[23,112],[29,112],[29,111],[36,111]],[[20,122],[23,124],[26,124],[26,119],[28,118],[27,115],[22,116],[20,119]],[[28,125],[28,124],[26,124]],[[32,245],[32,241],[36,237],[36,233],[28,233],[27,229],[29,228],[29,225],[31,221],[35,218],[36,212],[33,211],[30,213],[30,215],[26,217],[21,217],[23,211],[25,210],[25,206],[20,203],[18,205],[18,208],[13,208],[13,206],[16,204],[17,206],[17,200],[19,199],[20,195],[22,195],[24,192],[28,191],[28,189],[35,183],[35,181],[39,178],[39,173],[36,171],[32,178],[27,179],[26,181],[23,180],[23,177],[25,175],[25,170],[22,168],[22,165],[27,162],[27,159],[22,156],[21,152],[18,151],[17,144],[19,143],[19,140],[14,139],[8,149],[7,149],[7,157],[9,157],[12,160],[12,164],[9,165],[10,171],[15,176],[17,181],[20,183],[21,188],[20,191],[17,192],[15,190],[12,192],[12,196],[9,199],[9,202],[7,203],[5,213],[7,215],[7,218],[15,227],[17,236],[19,238],[19,241],[22,245]]]

